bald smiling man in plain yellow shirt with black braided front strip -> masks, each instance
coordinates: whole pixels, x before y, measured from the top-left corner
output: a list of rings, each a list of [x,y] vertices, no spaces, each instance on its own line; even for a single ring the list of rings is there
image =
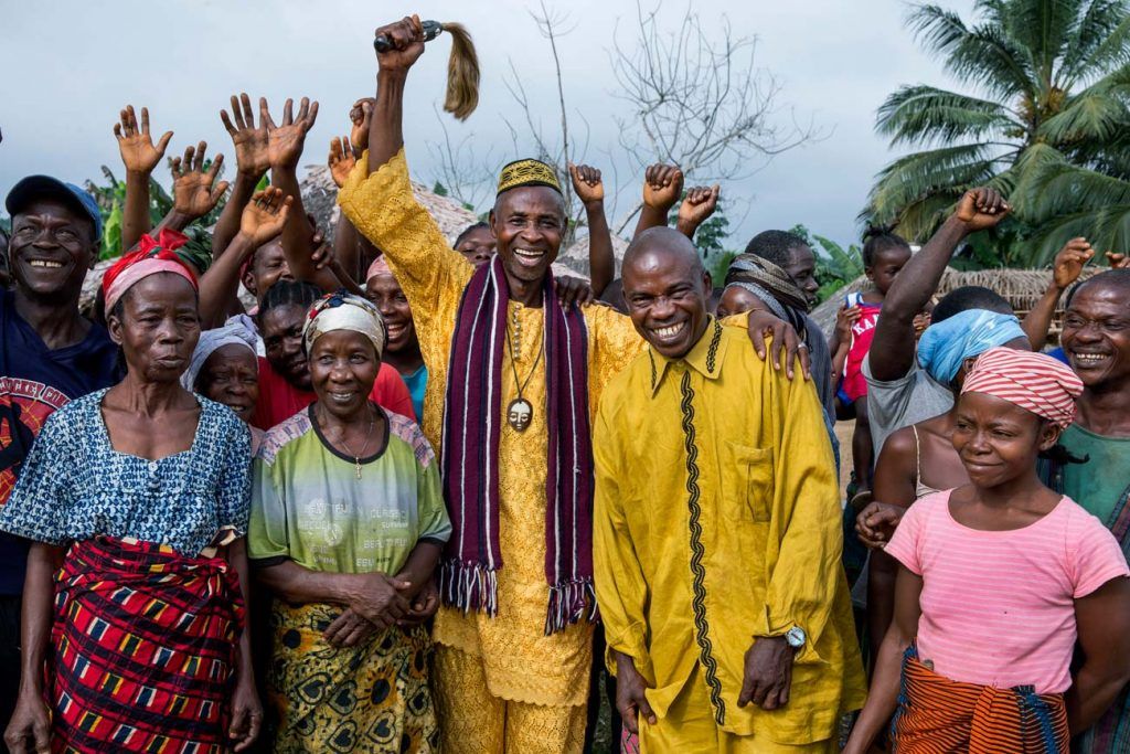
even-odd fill
[[[643,752],[831,752],[864,679],[811,383],[706,312],[670,228],[637,236],[624,298],[649,348],[605,389],[593,560],[617,705]]]

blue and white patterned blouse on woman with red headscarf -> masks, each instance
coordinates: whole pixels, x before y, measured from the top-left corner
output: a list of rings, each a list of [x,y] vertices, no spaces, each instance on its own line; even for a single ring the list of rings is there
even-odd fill
[[[47,419],[24,461],[0,529],[52,545],[132,537],[199,555],[220,529],[247,531],[251,435],[226,406],[197,396],[192,447],[150,461],[110,443],[99,390]]]

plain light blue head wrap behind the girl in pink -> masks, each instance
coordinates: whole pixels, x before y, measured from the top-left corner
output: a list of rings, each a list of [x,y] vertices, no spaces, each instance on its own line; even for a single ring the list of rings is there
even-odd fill
[[[919,364],[935,380],[949,384],[966,358],[1025,337],[1020,320],[1012,314],[967,309],[925,329],[919,340]]]

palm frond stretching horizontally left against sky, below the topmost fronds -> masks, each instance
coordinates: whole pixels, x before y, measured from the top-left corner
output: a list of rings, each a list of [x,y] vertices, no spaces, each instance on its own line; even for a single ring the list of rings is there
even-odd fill
[[[903,86],[879,106],[876,130],[892,145],[1002,137],[1024,124],[1002,104],[932,86]]]

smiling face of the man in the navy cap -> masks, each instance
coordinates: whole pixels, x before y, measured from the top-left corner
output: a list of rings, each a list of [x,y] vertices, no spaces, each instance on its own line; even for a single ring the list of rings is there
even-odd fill
[[[90,219],[61,201],[38,199],[11,220],[11,276],[37,298],[77,303],[96,251]]]

